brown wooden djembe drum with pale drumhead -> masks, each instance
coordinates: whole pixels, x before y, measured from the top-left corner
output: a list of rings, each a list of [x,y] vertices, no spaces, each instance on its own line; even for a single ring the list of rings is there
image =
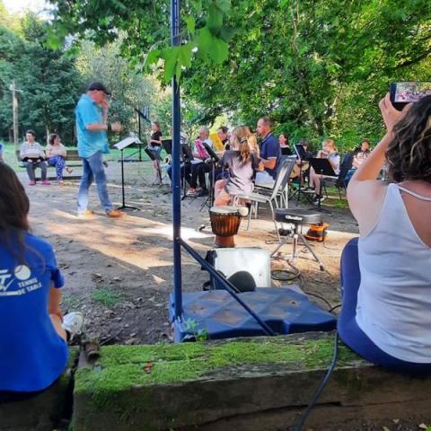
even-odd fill
[[[247,208],[211,207],[209,218],[211,220],[211,229],[216,235],[216,247],[235,246],[233,235],[238,233],[242,216],[247,216]]]

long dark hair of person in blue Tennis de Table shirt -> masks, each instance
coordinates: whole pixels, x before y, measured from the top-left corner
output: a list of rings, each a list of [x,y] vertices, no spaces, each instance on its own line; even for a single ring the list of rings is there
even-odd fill
[[[29,226],[29,198],[25,193],[22,183],[18,180],[13,169],[6,163],[0,162],[0,242],[16,254],[17,242],[18,256],[16,258],[23,262],[25,250],[24,233],[30,229]]]

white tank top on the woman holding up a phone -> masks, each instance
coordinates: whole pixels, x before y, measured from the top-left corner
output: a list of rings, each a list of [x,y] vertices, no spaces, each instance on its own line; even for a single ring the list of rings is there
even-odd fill
[[[388,186],[379,220],[358,252],[359,328],[388,355],[431,363],[431,248],[411,224],[397,184]]]

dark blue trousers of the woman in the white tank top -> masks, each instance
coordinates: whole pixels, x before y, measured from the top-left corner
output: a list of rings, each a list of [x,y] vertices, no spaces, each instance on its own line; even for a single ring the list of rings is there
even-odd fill
[[[357,291],[361,283],[357,238],[347,242],[341,254],[342,308],[339,315],[339,337],[359,356],[393,371],[409,374],[430,374],[431,364],[416,364],[397,359],[383,352],[356,323]]]

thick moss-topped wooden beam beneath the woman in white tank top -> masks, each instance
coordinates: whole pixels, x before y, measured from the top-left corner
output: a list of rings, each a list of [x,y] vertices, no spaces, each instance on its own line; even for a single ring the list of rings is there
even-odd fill
[[[332,335],[102,347],[96,367],[75,374],[73,429],[290,429],[330,365]],[[431,380],[385,372],[340,346],[307,426],[351,429],[393,418],[427,423],[430,389]]]

